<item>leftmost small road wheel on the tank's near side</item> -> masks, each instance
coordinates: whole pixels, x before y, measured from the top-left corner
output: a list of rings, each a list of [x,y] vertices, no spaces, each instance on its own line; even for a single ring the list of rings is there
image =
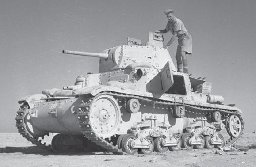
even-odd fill
[[[131,147],[131,142],[136,139],[133,134],[126,134],[122,139],[122,151],[129,155],[134,155],[138,152],[138,149]]]

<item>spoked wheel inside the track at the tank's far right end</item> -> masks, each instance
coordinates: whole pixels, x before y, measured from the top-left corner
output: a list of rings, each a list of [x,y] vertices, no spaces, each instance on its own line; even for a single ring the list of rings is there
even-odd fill
[[[232,137],[238,137],[242,131],[241,120],[237,115],[230,115],[226,120],[227,132]]]

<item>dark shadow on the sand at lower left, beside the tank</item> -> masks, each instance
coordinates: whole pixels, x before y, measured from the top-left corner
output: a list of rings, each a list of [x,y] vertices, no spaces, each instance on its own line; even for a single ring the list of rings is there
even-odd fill
[[[87,152],[87,151],[70,151],[70,152],[56,152],[56,151],[48,151],[45,149],[37,148],[36,146],[30,146],[30,147],[5,147],[0,148],[0,153],[23,153],[23,154],[40,154],[43,156],[48,155],[76,155],[76,156],[84,156],[84,155],[111,155],[110,152]]]

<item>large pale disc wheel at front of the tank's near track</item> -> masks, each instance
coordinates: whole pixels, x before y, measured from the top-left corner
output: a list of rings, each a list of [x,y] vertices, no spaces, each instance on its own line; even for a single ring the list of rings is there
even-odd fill
[[[112,96],[100,95],[93,99],[89,117],[96,136],[108,138],[115,135],[120,115],[119,105]]]

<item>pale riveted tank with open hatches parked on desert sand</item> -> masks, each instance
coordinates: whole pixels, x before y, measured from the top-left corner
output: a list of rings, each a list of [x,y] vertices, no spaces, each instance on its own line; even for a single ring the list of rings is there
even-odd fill
[[[241,110],[212,95],[204,78],[177,72],[163,41],[149,32],[145,46],[128,37],[127,45],[103,53],[63,50],[99,58],[99,73],[19,100],[18,132],[40,148],[62,152],[100,147],[148,155],[236,142],[244,132]],[[46,146],[41,138],[49,133],[56,135]]]

